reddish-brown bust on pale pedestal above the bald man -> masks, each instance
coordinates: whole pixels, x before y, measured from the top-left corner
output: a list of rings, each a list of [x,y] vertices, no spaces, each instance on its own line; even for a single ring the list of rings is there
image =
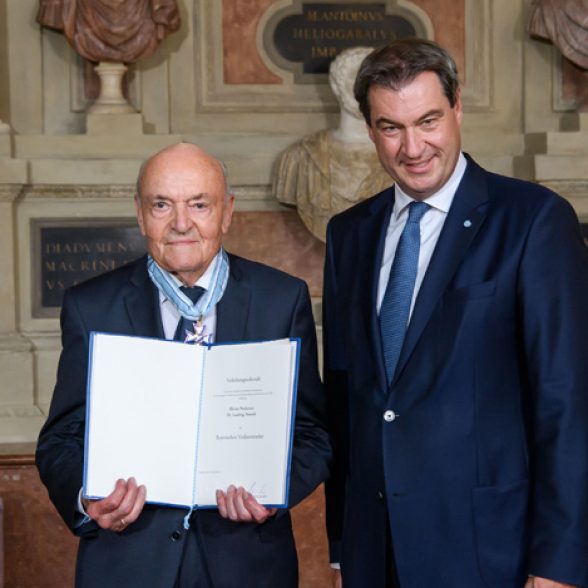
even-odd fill
[[[124,64],[149,57],[180,28],[176,0],[40,0],[37,21],[63,31],[100,77],[100,96],[88,112],[134,112],[122,93]]]

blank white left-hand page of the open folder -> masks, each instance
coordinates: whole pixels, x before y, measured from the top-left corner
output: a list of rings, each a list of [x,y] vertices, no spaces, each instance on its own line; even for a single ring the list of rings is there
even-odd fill
[[[173,341],[93,335],[85,496],[107,496],[117,479],[134,476],[148,502],[192,505],[204,353]]]

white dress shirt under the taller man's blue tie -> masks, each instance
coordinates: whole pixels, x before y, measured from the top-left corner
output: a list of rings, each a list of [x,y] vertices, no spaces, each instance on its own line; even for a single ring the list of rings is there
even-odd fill
[[[435,245],[441,234],[441,229],[445,224],[447,213],[451,208],[453,197],[457,191],[457,187],[461,182],[463,174],[465,173],[467,166],[466,158],[463,153],[459,154],[457,164],[449,180],[445,185],[435,194],[429,196],[425,202],[431,207],[425,212],[421,219],[421,246],[419,250],[419,263],[417,269],[416,281],[414,284],[414,292],[412,293],[412,303],[410,306],[410,316],[414,308],[414,303],[419,293],[425,272],[429,267],[429,262],[433,256]],[[380,314],[380,308],[382,306],[382,300],[384,299],[384,293],[386,292],[386,286],[388,285],[388,278],[390,277],[390,269],[392,268],[392,262],[396,255],[396,248],[398,247],[398,241],[400,235],[404,230],[404,225],[408,220],[408,205],[414,202],[414,199],[403,192],[402,188],[398,184],[394,186],[394,209],[390,217],[390,224],[386,231],[386,241],[384,244],[384,255],[382,257],[382,266],[380,267],[380,279],[378,282],[378,298],[377,298],[377,312]]]

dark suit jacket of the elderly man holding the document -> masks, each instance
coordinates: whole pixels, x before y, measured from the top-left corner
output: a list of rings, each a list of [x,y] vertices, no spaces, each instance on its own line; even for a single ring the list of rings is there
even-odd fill
[[[49,417],[39,437],[37,465],[51,500],[74,529],[84,459],[89,332],[163,338],[158,292],[145,258],[67,291],[61,324],[63,351]],[[302,339],[292,506],[326,478],[330,460],[308,290],[301,280],[230,256],[229,282],[217,306],[216,341],[282,337]],[[83,525],[76,530],[81,535],[77,585],[171,588],[185,543],[185,514],[181,509],[146,506],[122,533],[99,529],[95,523]],[[263,525],[233,523],[216,510],[196,511],[191,527],[215,588],[297,585],[287,511]]]

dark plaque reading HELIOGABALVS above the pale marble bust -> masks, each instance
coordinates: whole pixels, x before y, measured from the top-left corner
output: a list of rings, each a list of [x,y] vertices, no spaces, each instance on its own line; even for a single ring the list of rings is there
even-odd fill
[[[264,36],[266,51],[297,82],[326,78],[331,61],[350,47],[379,47],[395,39],[424,36],[408,14],[389,14],[385,2],[302,3],[299,14],[278,12]]]

